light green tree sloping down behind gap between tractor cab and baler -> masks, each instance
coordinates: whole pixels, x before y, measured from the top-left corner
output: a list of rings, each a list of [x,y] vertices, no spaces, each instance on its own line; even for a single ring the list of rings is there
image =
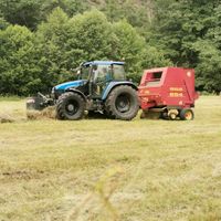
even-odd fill
[[[162,52],[148,45],[136,29],[126,21],[115,23],[113,30],[116,35],[115,59],[125,60],[128,77],[135,82],[140,81],[144,69],[171,64],[165,59]]]

